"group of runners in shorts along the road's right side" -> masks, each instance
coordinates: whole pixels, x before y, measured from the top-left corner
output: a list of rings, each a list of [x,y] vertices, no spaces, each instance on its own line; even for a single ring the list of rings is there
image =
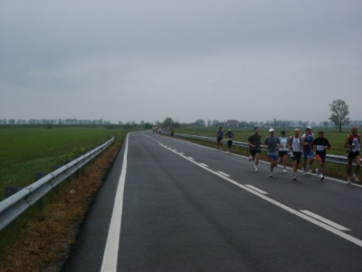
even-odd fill
[[[319,180],[324,180],[323,169],[326,160],[327,150],[331,149],[329,141],[324,138],[324,131],[319,131],[318,137],[315,138],[310,126],[306,128],[306,131],[300,136],[300,130],[295,129],[293,135],[286,138],[286,132],[281,131],[281,137],[274,135],[274,130],[269,130],[269,136],[262,142],[262,136],[259,134],[259,128],[254,128],[254,133],[248,138],[248,144],[250,148],[249,161],[254,161],[254,170],[258,171],[258,164],[260,158],[261,149],[267,150],[268,160],[270,161],[270,177],[274,167],[280,162],[283,167],[283,173],[286,173],[286,166],[288,162],[288,152],[291,151],[291,160],[293,168],[293,180],[297,180],[297,172],[300,165],[300,160],[303,158],[302,173],[306,175],[307,172],[311,172],[311,165],[314,160],[318,160],[318,168],[316,168],[316,176]],[[224,135],[222,127],[219,127],[215,135],[217,136],[217,149],[222,150],[223,138],[227,138],[227,152],[231,152],[233,145],[233,131],[229,130]],[[359,181],[357,177],[358,170],[360,168],[360,134],[357,132],[357,127],[351,129],[351,133],[345,141],[344,147],[348,148],[348,178],[347,182],[350,184],[351,180]],[[314,151],[315,149],[315,151]],[[309,160],[309,163],[307,162]],[[351,176],[352,162],[356,161],[356,169],[353,176]]]

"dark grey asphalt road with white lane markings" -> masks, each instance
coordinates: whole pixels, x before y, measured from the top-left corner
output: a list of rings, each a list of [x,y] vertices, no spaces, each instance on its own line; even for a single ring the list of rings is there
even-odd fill
[[[62,270],[362,271],[362,188],[132,132]]]

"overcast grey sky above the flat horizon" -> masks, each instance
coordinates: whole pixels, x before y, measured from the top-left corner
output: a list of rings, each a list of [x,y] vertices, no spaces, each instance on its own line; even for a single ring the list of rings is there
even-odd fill
[[[0,119],[362,120],[362,1],[0,0]]]

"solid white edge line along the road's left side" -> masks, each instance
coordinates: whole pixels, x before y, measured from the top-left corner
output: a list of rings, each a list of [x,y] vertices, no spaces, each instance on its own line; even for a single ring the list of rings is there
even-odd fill
[[[119,185],[117,186],[116,198],[114,199],[112,218],[110,219],[110,229],[106,248],[102,260],[101,272],[117,271],[117,261],[119,256],[119,236],[123,208],[123,191],[127,173],[127,153],[129,151],[129,134],[126,139],[126,149],[123,155],[122,170],[119,176]]]

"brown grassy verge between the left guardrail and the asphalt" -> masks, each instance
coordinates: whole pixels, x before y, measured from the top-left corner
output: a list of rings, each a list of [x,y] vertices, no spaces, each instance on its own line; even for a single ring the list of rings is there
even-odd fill
[[[13,243],[3,248],[1,272],[60,271],[120,146],[119,141],[110,146],[83,176],[63,182],[52,201],[35,212]],[[6,231],[11,230],[5,228],[0,235]]]

